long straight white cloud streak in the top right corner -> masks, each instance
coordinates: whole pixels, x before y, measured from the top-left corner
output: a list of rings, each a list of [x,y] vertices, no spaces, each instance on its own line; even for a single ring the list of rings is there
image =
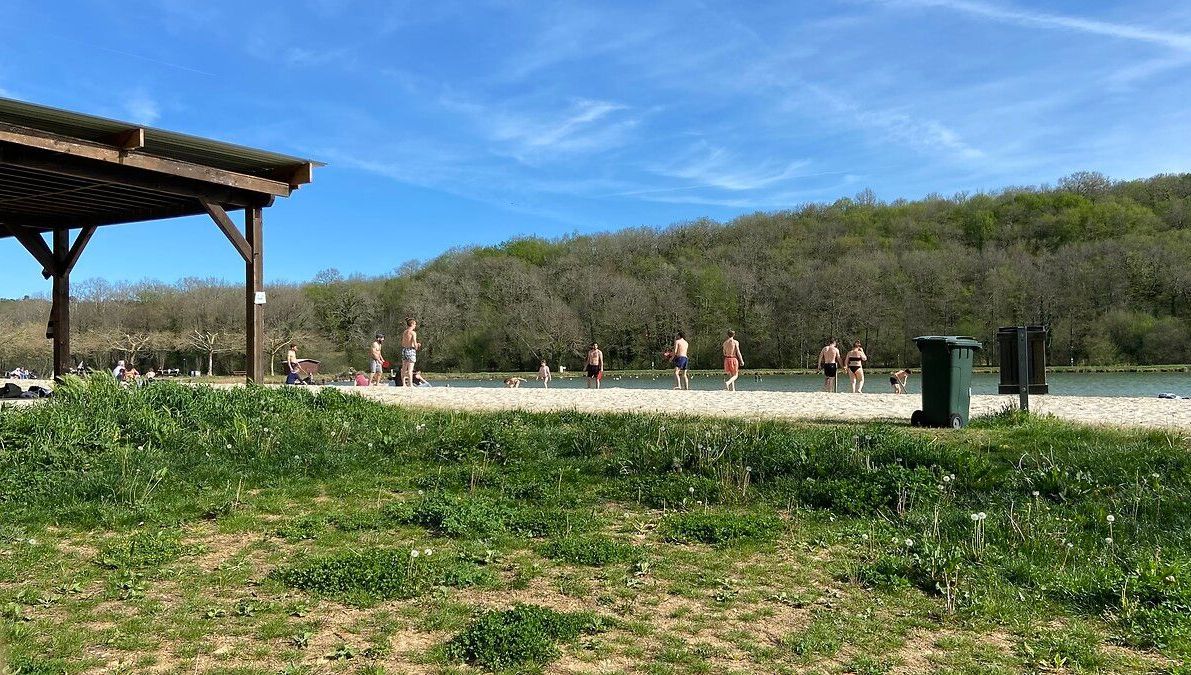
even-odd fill
[[[1035,12],[1018,10],[1009,6],[990,5],[973,0],[892,0],[898,5],[918,5],[923,7],[941,7],[975,14],[999,21],[1008,21],[1019,25],[1043,26],[1079,31],[1084,33],[1099,35],[1118,39],[1128,39],[1165,46],[1183,52],[1191,52],[1191,35],[1174,31],[1164,31],[1140,26],[1134,24],[1121,24],[1087,19],[1084,17],[1072,17],[1067,14],[1054,14],[1049,12]]]

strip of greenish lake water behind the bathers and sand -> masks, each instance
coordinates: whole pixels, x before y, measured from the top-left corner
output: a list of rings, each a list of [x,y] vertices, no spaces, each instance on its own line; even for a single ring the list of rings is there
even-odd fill
[[[435,381],[434,374],[428,373],[426,377],[436,387],[504,387],[504,381],[492,380],[439,380]],[[692,389],[721,389],[723,388],[723,375],[692,375]],[[996,394],[997,383],[1000,381],[994,373],[977,373],[972,376],[973,394]],[[1050,373],[1047,375],[1050,385],[1050,395],[1068,396],[1143,396],[1153,398],[1160,393],[1171,392],[1184,396],[1191,396],[1191,373]],[[921,393],[918,373],[910,376],[909,390],[911,394]],[[528,380],[523,387],[541,387],[541,382]],[[586,386],[582,377],[566,377],[550,381],[550,388],[581,389]],[[604,376],[604,387],[622,387],[629,389],[668,389],[674,386],[672,373],[659,373],[653,376],[618,376],[610,371]],[[819,375],[771,375],[760,380],[754,379],[746,370],[736,381],[740,390],[766,390],[766,392],[818,392],[823,386]],[[841,374],[837,389],[850,390],[848,377]],[[865,390],[868,393],[890,393],[888,373],[877,370],[865,379]]]

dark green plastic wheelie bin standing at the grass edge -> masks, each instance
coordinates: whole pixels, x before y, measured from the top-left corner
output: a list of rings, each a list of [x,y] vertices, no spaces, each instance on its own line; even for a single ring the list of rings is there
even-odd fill
[[[922,352],[922,410],[910,417],[913,426],[967,424],[972,404],[972,362],[979,340],[964,336],[922,336],[913,338]]]

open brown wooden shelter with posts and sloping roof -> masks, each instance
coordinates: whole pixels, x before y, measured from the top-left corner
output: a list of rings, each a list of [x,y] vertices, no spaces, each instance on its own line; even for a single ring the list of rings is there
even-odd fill
[[[70,369],[70,270],[95,230],[206,213],[244,258],[245,374],[262,381],[262,214],[320,165],[0,98],[0,238],[20,242],[54,280],[54,374]],[[244,212],[243,232],[233,211]]]

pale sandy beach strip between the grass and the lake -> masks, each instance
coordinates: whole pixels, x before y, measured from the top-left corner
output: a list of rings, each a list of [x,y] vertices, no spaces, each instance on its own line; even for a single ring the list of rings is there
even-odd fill
[[[636,412],[746,419],[909,421],[922,407],[918,394],[824,394],[802,392],[676,392],[673,389],[360,387],[347,392],[386,404],[447,410],[534,412]],[[972,414],[1015,404],[1016,396],[973,396]],[[1191,429],[1191,400],[1121,396],[1034,396],[1031,410],[1085,424]]]

